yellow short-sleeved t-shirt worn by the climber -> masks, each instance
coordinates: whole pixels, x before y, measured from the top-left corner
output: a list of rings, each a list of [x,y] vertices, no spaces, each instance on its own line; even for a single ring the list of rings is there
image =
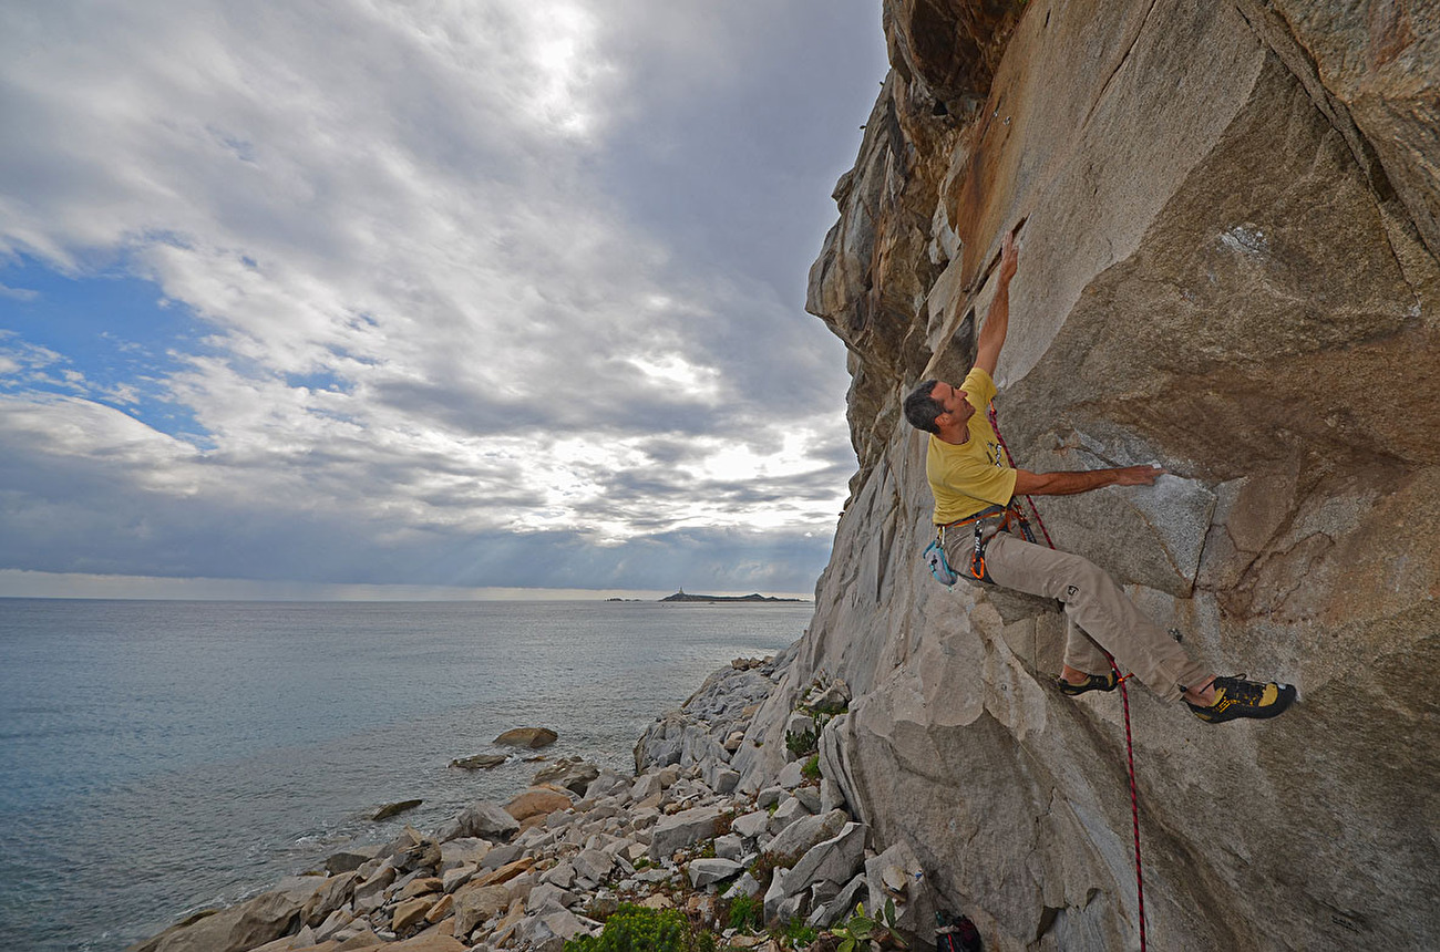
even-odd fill
[[[995,381],[979,367],[960,384],[975,414],[966,423],[971,439],[959,446],[930,434],[924,476],[935,493],[935,523],[972,516],[986,506],[1004,506],[1015,495],[1015,470],[1005,464],[999,437],[985,416],[995,397]]]

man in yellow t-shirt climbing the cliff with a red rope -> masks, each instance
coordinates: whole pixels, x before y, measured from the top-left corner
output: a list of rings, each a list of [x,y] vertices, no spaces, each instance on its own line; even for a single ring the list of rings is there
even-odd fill
[[[1064,667],[1056,680],[1070,696],[1115,690],[1117,666],[1129,669],[1166,702],[1184,697],[1208,723],[1273,718],[1295,700],[1290,685],[1217,677],[1197,662],[1100,568],[1079,555],[1035,545],[1015,496],[1068,496],[1103,486],[1148,486],[1165,470],[1125,466],[1031,473],[1005,464],[995,429],[978,413],[995,397],[991,375],[1009,324],[1009,280],[1020,266],[1012,234],[1001,250],[998,288],[976,339],[975,367],[959,387],[927,380],[904,400],[904,416],[930,434],[926,477],[935,523],[953,571],[972,581],[1057,598],[1068,618]]]

